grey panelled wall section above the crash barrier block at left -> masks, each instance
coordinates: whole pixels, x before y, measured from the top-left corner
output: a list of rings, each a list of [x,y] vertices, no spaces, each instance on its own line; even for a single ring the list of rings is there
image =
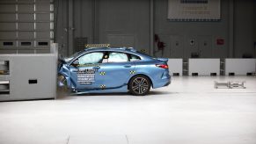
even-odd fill
[[[48,52],[54,39],[53,3],[53,0],[1,0],[0,54],[15,49],[15,53]]]

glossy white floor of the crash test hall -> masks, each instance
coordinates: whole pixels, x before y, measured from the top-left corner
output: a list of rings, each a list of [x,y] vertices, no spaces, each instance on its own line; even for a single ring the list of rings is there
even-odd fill
[[[246,89],[214,89],[214,81]],[[0,103],[0,144],[256,144],[256,77],[173,77],[128,94]]]

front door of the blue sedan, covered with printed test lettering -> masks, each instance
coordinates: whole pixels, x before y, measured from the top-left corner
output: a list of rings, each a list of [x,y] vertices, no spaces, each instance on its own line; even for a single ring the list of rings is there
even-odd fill
[[[103,83],[99,75],[101,61],[105,52],[83,54],[70,64],[70,78],[77,90],[99,89]]]

